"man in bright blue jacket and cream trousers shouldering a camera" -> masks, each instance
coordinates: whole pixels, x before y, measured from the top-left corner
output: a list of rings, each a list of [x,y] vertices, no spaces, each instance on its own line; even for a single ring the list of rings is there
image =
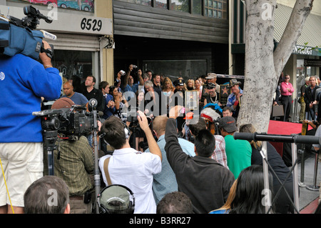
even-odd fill
[[[0,172],[0,213],[24,212],[24,192],[43,175],[41,118],[32,112],[41,110],[41,97],[58,99],[62,80],[50,57],[39,57],[42,64],[23,54],[0,57],[0,158],[12,203]]]

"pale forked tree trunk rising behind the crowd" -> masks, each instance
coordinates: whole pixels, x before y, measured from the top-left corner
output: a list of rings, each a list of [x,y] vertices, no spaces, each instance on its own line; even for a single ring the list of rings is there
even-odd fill
[[[313,0],[297,0],[285,33],[273,53],[276,0],[247,0],[245,82],[238,126],[267,132],[277,81],[300,36]]]

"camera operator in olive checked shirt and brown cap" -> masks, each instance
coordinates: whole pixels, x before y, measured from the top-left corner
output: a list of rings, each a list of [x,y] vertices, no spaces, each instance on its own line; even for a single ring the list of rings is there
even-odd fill
[[[74,105],[68,97],[54,102],[51,109],[70,108]],[[93,190],[93,151],[85,136],[78,140],[56,142],[54,150],[54,174],[61,177],[69,189],[71,214],[91,214],[91,190]],[[45,156],[46,157],[46,156]],[[46,161],[46,159],[45,159]],[[45,165],[45,170],[46,170]]]

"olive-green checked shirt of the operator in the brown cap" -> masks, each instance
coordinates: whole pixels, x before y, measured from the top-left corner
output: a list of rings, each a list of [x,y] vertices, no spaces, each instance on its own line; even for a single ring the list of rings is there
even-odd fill
[[[82,196],[93,188],[90,175],[94,171],[94,156],[88,139],[82,136],[76,141],[63,140],[56,142],[56,146],[54,175],[66,182],[70,196]]]

